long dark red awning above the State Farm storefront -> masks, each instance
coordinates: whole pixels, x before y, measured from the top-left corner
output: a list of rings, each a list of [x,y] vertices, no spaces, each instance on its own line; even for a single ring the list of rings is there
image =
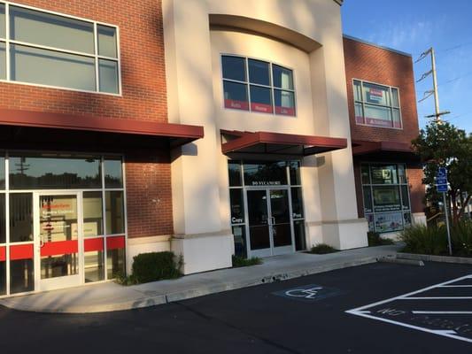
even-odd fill
[[[67,146],[74,142],[77,147],[173,148],[204,136],[199,126],[7,109],[0,109],[0,126],[0,142],[21,142],[22,146],[27,142]]]

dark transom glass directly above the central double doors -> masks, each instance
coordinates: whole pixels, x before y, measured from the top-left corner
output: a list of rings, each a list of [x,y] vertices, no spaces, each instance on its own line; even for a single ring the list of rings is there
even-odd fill
[[[285,162],[262,162],[244,164],[246,186],[278,186],[287,184]]]

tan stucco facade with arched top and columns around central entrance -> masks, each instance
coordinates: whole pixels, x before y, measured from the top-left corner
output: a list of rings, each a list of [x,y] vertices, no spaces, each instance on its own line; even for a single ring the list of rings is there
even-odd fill
[[[205,127],[204,139],[184,146],[182,152],[174,151],[176,233],[205,234],[229,228],[228,176],[220,128],[336,136],[350,142],[340,7],[336,2],[164,0],[163,13],[169,121]],[[231,26],[241,24],[245,29],[210,30],[211,16],[219,17],[219,26],[227,16],[232,19]],[[248,34],[246,27],[252,31],[272,27],[270,35],[280,34],[293,46],[277,38]],[[221,52],[293,68],[297,117],[223,109]],[[332,222],[358,222],[351,149],[306,159],[304,165],[306,221],[329,221],[329,229],[334,228],[336,234],[329,239],[343,247],[340,233],[345,227],[332,227]]]

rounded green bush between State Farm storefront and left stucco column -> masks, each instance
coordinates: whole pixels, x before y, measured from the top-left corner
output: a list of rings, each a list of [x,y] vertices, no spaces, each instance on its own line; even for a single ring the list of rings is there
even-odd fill
[[[133,258],[132,276],[138,283],[174,279],[182,276],[182,259],[174,252],[141,253]]]

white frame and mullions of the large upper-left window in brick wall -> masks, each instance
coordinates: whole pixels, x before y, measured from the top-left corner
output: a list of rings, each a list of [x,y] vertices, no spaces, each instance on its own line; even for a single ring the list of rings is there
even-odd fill
[[[86,93],[93,93],[93,94],[100,94],[100,95],[106,95],[106,96],[122,96],[122,85],[121,85],[121,50],[120,50],[120,27],[116,25],[112,25],[106,22],[101,22],[101,21],[96,21],[92,19],[84,19],[81,17],[73,16],[73,15],[68,15],[66,13],[62,12],[54,12],[50,10],[44,10],[35,6],[29,6],[25,4],[17,4],[13,3],[10,1],[4,1],[0,0],[0,4],[4,4],[5,7],[5,38],[0,39],[0,42],[5,43],[5,55],[6,55],[6,62],[5,62],[5,73],[6,73],[6,78],[5,79],[0,79],[0,82],[8,82],[8,83],[14,83],[14,84],[19,84],[19,85],[27,85],[27,86],[35,86],[39,88],[45,88],[45,89],[64,89],[67,91],[74,91],[74,92],[86,92]],[[41,44],[35,44],[35,43],[30,43],[30,42],[21,42],[21,41],[16,41],[12,40],[10,38],[10,6],[14,7],[19,7],[35,12],[43,12],[46,14],[50,15],[56,15],[63,17],[65,19],[75,19],[83,22],[87,22],[89,24],[92,24],[93,26],[93,36],[94,36],[94,54],[89,54],[81,51],[75,51],[75,50],[65,50],[65,49],[60,49],[56,47],[50,47],[50,46],[44,46]],[[98,26],[104,26],[104,27],[112,27],[116,30],[116,50],[117,50],[117,57],[116,58],[110,58],[106,56],[101,56],[98,54],[98,32],[97,32],[97,27]],[[62,86],[54,86],[54,85],[47,85],[47,84],[39,84],[39,83],[32,83],[32,82],[25,82],[25,81],[12,81],[11,80],[11,72],[10,72],[10,44],[13,45],[19,45],[19,46],[24,46],[28,48],[34,48],[34,49],[39,49],[39,50],[51,50],[51,51],[56,51],[60,53],[66,53],[66,54],[72,54],[76,56],[81,56],[81,57],[86,57],[86,58],[93,58],[95,61],[95,90],[88,90],[88,89],[72,89],[72,88],[66,88]],[[99,82],[99,61],[100,60],[109,60],[117,63],[117,70],[118,70],[118,75],[117,75],[117,80],[118,80],[118,93],[111,93],[111,92],[102,92],[100,91],[100,82]]]

